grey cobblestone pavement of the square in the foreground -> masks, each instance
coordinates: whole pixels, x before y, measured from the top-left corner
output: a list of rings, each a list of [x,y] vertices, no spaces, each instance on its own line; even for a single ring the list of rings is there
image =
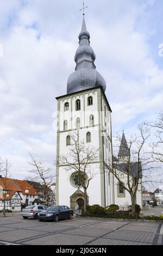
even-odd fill
[[[0,245],[163,245],[161,222],[0,218]]]

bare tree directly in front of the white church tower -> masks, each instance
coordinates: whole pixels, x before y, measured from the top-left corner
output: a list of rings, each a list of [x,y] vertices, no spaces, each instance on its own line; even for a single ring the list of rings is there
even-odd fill
[[[90,181],[96,175],[95,169],[92,170],[91,163],[99,161],[99,149],[85,144],[80,140],[78,132],[70,134],[71,145],[68,147],[68,154],[61,155],[59,159],[60,166],[65,166],[67,171],[75,172],[78,175],[78,181],[84,190],[84,210],[87,205],[87,188]],[[86,179],[87,177],[87,179]]]

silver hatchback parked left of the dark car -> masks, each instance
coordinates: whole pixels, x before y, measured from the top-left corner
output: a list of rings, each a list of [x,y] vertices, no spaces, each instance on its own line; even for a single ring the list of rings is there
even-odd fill
[[[47,208],[48,206],[46,205],[28,205],[26,208],[22,209],[22,217],[33,217],[36,219],[39,212],[45,211]]]

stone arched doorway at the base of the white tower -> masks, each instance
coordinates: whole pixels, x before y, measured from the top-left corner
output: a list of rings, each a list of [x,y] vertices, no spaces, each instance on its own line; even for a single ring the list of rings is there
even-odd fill
[[[89,197],[87,197],[87,202],[88,202]],[[79,204],[79,210],[83,210],[84,207],[84,193],[81,190],[77,190],[76,192],[74,192],[71,197],[70,197],[70,207],[71,209],[75,209],[76,203],[80,203]],[[80,209],[81,208],[81,209]]]

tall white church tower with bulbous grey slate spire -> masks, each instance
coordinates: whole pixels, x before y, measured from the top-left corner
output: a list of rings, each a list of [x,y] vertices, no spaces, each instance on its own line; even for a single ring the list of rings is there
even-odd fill
[[[67,94],[57,97],[57,204],[74,209],[84,202],[83,188],[76,173],[67,173],[60,163],[60,156],[68,154],[70,133],[77,131],[85,144],[99,148],[99,161],[92,162],[90,169],[96,175],[87,189],[89,204],[107,206],[114,203],[112,174],[105,169],[105,163],[112,164],[111,108],[105,96],[106,83],[96,70],[96,55],[90,46],[90,34],[83,15],[82,30],[79,33],[79,47],[74,60],[75,71],[68,77]]]

